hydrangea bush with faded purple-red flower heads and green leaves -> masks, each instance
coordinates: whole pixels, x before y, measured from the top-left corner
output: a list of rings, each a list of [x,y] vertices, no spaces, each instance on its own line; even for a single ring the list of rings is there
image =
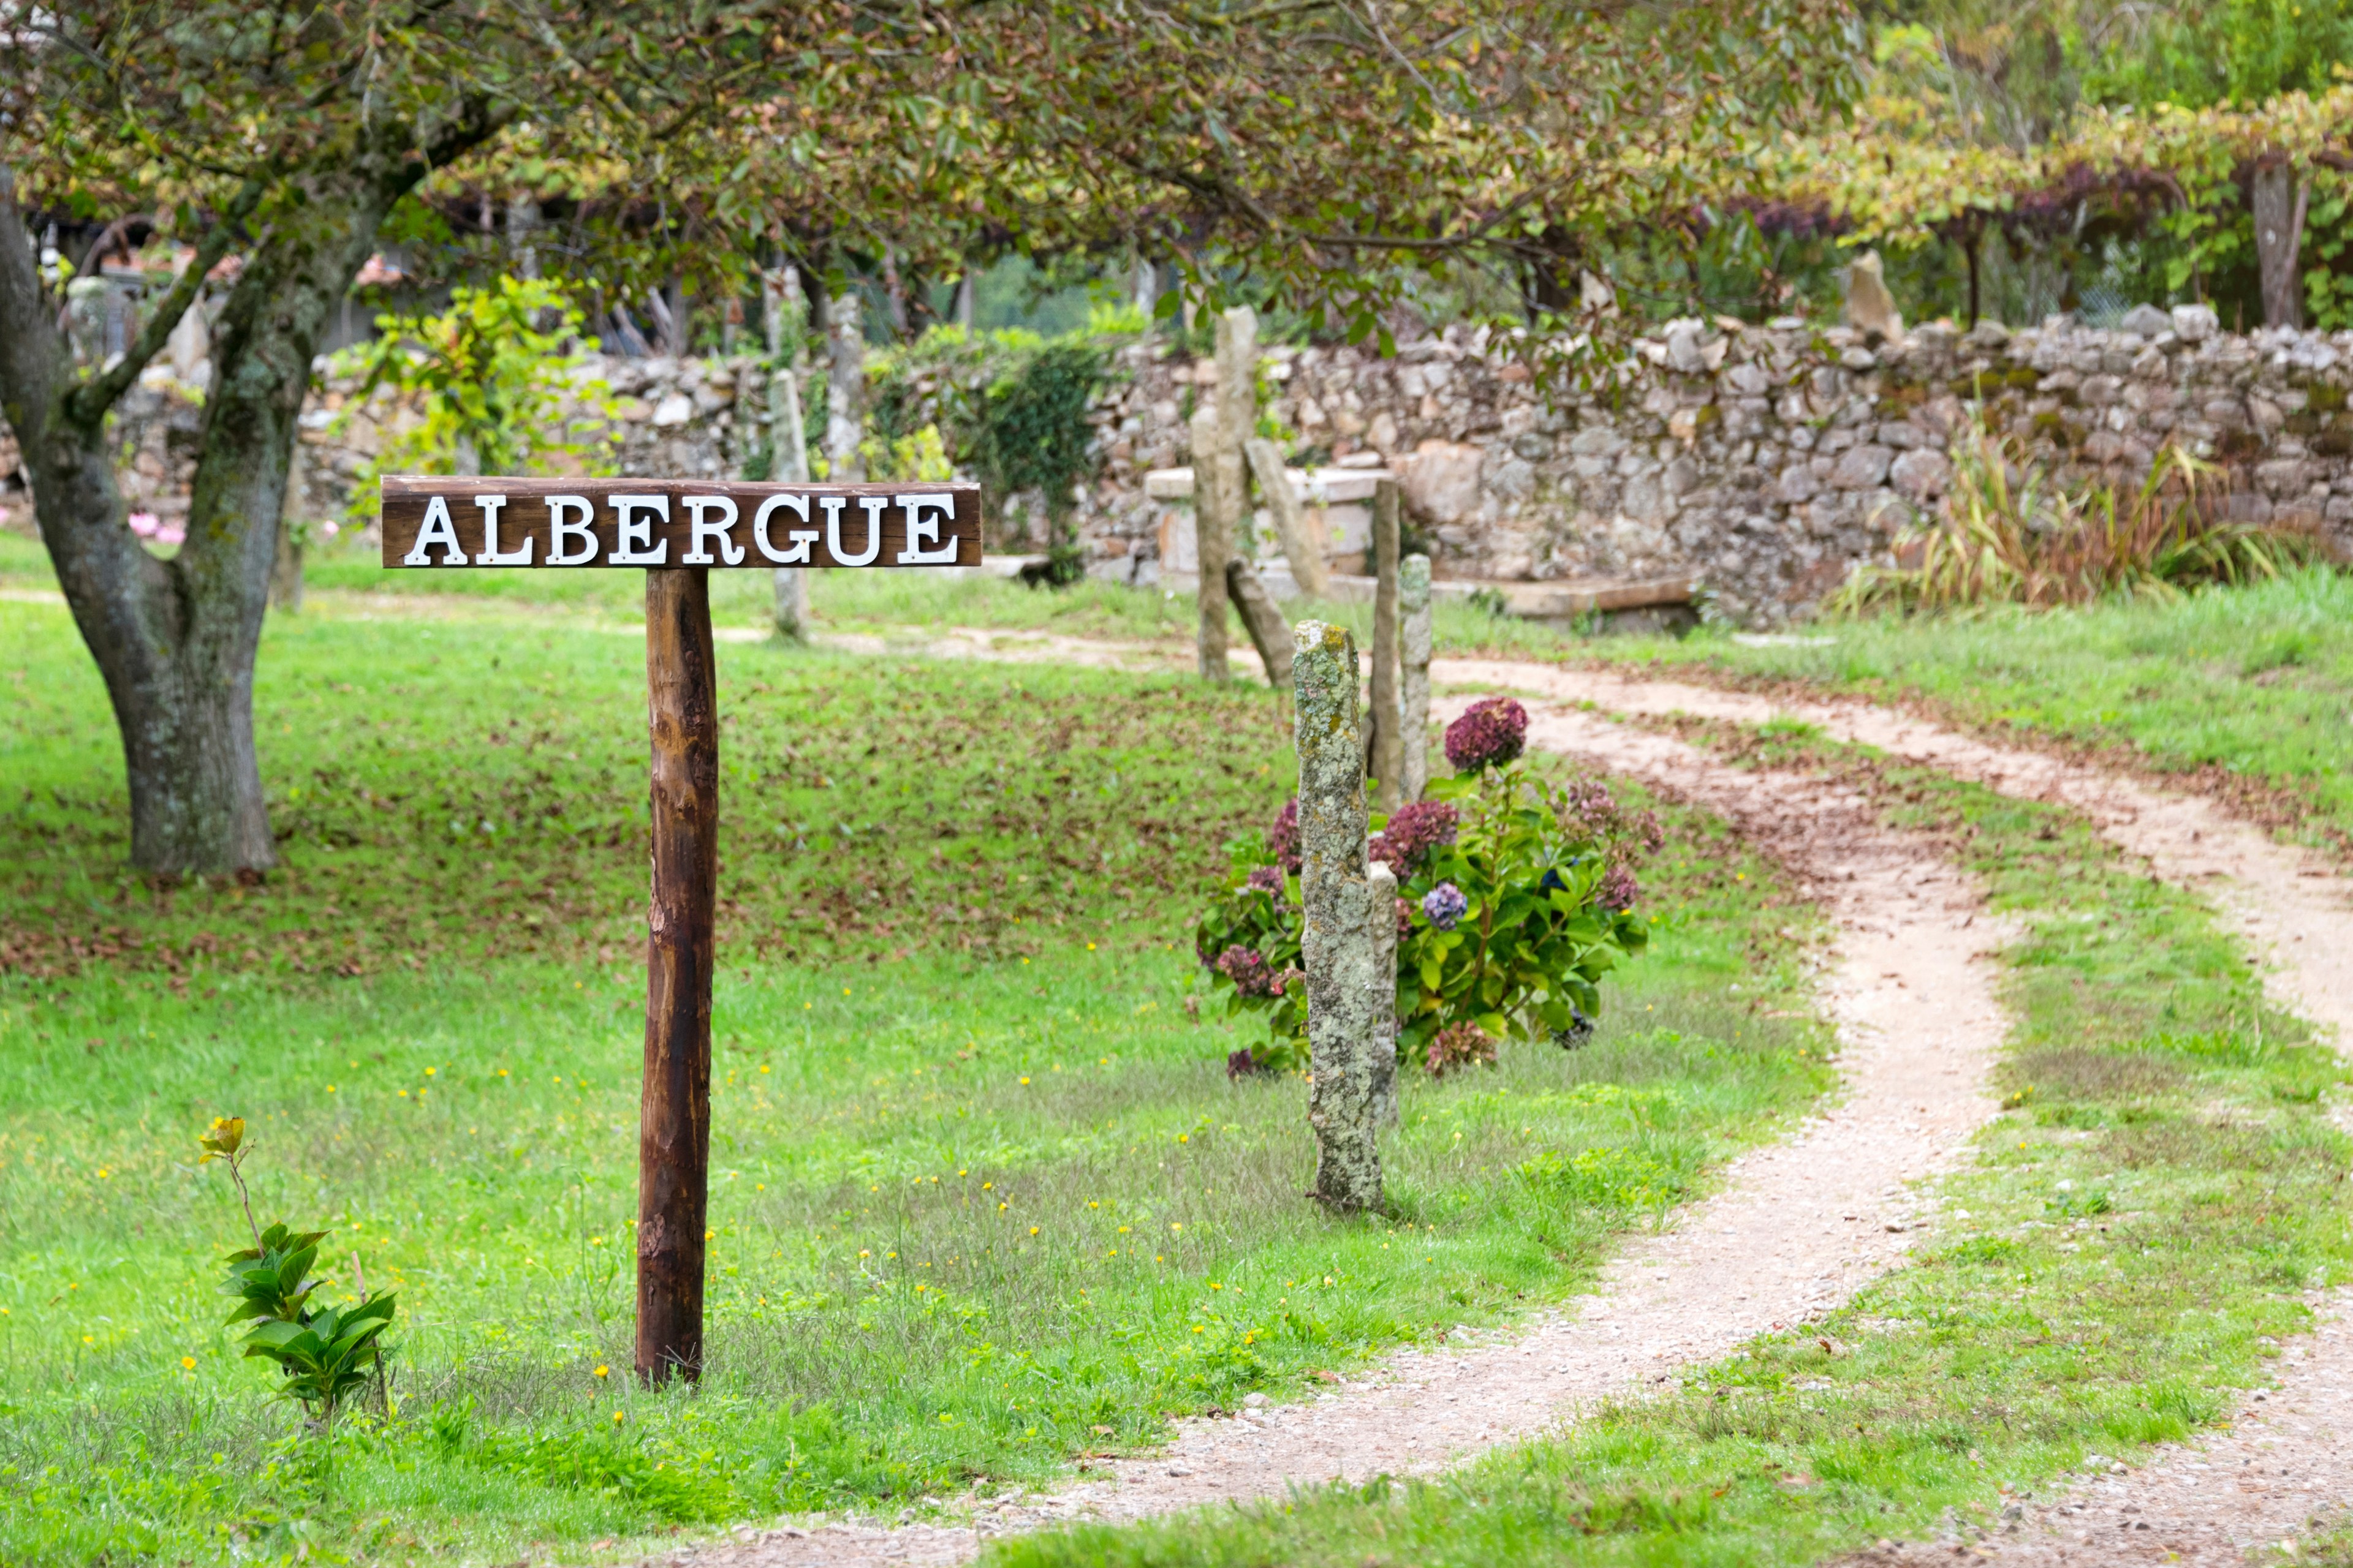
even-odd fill
[[[1504,1039],[1572,1046],[1600,1013],[1600,980],[1640,952],[1635,867],[1659,820],[1626,811],[1598,778],[1551,783],[1520,762],[1527,710],[1473,703],[1447,726],[1454,778],[1374,818],[1367,858],[1398,877],[1398,1060],[1431,1072],[1494,1060]],[[1268,1041],[1233,1072],[1306,1063],[1299,969],[1299,802],[1245,842],[1195,931],[1231,1013],[1264,1013]],[[1478,1041],[1487,1044],[1480,1046]]]

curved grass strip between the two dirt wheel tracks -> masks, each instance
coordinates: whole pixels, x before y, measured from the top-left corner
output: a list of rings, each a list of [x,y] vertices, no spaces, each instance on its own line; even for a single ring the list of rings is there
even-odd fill
[[[2092,1453],[2228,1422],[2304,1293],[2353,1276],[2353,1140],[2322,1105],[2346,1063],[2264,1006],[2198,903],[2061,809],[1802,726],[1692,733],[1847,773],[1948,835],[2024,924],[2009,1110],[1946,1180],[1934,1246],[1819,1333],[1760,1338],[1560,1441],[1428,1483],[993,1544],[991,1568],[1729,1568],[1922,1540],[1998,1523]]]

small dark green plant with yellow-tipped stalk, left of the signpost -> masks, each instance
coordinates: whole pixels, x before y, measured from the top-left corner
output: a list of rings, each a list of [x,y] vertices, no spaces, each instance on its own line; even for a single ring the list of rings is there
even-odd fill
[[[322,1281],[311,1276],[311,1267],[327,1232],[294,1232],[285,1225],[261,1229],[254,1222],[254,1199],[242,1171],[252,1154],[242,1117],[216,1119],[198,1145],[205,1150],[198,1164],[219,1159],[228,1166],[254,1239],[249,1248],[228,1253],[228,1279],[221,1281],[221,1291],[238,1302],[228,1321],[254,1324],[245,1335],[245,1354],[275,1363],[285,1378],[280,1392],[301,1403],[320,1427],[332,1427],[336,1410],[369,1385],[388,1406],[384,1331],[393,1324],[393,1295],[367,1295],[348,1309],[313,1307],[311,1295]]]

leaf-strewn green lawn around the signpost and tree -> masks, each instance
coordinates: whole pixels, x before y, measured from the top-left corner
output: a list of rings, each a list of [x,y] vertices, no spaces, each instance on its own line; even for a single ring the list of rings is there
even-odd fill
[[[35,567],[0,548],[9,588]],[[1562,1300],[1828,1084],[1821,1030],[1772,1018],[1807,1006],[1809,912],[1668,813],[1657,938],[1600,1037],[1417,1079],[1398,1213],[1327,1222],[1301,1081],[1226,1081],[1247,1034],[1195,1016],[1184,950],[1224,844],[1289,790],[1273,696],[720,661],[713,1366],[649,1394],[642,644],[273,616],[285,867],[155,891],[68,616],[0,604],[0,1561],[579,1561],[1049,1479]],[[231,1354],[242,1220],[193,1164],[219,1114],[249,1124],[261,1220],[332,1229],[332,1293],[398,1288],[395,1420],[304,1434]],[[1577,1192],[1520,1173],[1581,1150]]]

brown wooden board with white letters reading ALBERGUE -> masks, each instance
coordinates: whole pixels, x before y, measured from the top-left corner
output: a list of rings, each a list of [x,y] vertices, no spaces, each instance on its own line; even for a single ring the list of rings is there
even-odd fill
[[[976,484],[386,475],[386,567],[979,567]]]

